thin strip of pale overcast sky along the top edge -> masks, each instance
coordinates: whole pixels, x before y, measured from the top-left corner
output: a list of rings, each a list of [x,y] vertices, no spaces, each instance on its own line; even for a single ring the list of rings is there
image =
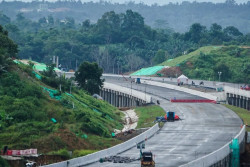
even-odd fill
[[[0,0],[0,2],[1,1],[2,0]],[[13,0],[5,0],[5,1],[13,1]],[[17,1],[31,2],[32,0],[17,0]],[[42,0],[39,0],[39,1],[42,1]],[[56,0],[45,0],[45,1],[54,2]],[[99,2],[100,0],[81,0],[81,1],[82,2],[90,2],[90,1]],[[157,3],[158,5],[165,5],[165,4],[168,4],[169,2],[181,3],[183,0],[104,0],[104,1],[112,2],[112,3],[127,3],[129,1],[133,1],[135,3],[142,2],[142,3],[147,4],[147,5],[152,5],[154,3]],[[193,2],[194,0],[186,0],[186,1]],[[223,3],[225,1],[226,0],[196,0],[196,2],[213,2],[213,3]],[[246,3],[247,1],[250,1],[250,0],[235,0],[235,1],[237,3]]]

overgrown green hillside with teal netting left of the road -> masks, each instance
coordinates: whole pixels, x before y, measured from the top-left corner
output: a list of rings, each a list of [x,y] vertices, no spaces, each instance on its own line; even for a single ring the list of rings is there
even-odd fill
[[[32,68],[12,64],[0,77],[0,147],[100,150],[121,141],[111,138],[122,128],[120,112],[82,90],[59,91],[36,78]]]

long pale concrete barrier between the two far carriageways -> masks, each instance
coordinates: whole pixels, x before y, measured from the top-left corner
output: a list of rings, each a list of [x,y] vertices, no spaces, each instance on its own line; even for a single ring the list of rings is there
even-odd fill
[[[145,84],[149,84],[149,85],[155,85],[155,86],[164,87],[164,88],[168,88],[168,89],[173,89],[173,90],[177,90],[177,91],[181,91],[181,92],[186,92],[186,93],[189,93],[189,94],[192,94],[192,95],[196,95],[196,96],[200,96],[200,97],[203,97],[203,98],[206,98],[206,99],[217,101],[216,96],[213,96],[213,95],[208,94],[208,93],[200,92],[200,91],[197,91],[197,90],[192,90],[192,89],[183,88],[183,87],[180,87],[180,86],[171,85],[171,84],[167,84],[167,83],[156,82],[156,81],[142,80],[141,82],[143,82]]]

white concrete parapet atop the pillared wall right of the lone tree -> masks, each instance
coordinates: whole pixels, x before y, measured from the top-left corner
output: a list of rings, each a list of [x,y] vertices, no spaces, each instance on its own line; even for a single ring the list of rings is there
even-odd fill
[[[111,84],[111,83],[107,83],[104,82],[103,88],[106,89],[111,89],[117,92],[121,92],[127,95],[131,95],[133,97],[136,97],[138,99],[144,100],[146,101],[146,103],[151,103],[152,102],[152,97],[146,93],[134,90],[134,89],[130,89],[130,88],[126,88],[126,87],[122,87],[119,85],[115,85],[115,84]]]

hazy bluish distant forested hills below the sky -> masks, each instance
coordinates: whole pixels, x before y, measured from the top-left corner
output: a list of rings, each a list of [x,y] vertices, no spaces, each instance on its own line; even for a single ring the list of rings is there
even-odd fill
[[[125,13],[128,9],[138,12],[145,18],[145,23],[154,28],[168,27],[183,33],[188,31],[194,23],[201,23],[206,27],[217,23],[223,28],[234,25],[243,33],[250,32],[250,2],[236,4],[234,0],[225,0],[225,3],[217,4],[183,1],[164,6],[157,4],[148,6],[143,2],[135,4],[131,1],[125,4],[114,4],[102,0],[98,3],[82,3],[80,0],[2,1],[0,3],[0,11],[3,11],[12,20],[18,13],[22,12],[26,18],[33,21],[51,15],[55,20],[72,17],[76,23],[82,23],[86,19],[89,19],[91,23],[96,23],[105,12],[114,11],[120,14]]]

